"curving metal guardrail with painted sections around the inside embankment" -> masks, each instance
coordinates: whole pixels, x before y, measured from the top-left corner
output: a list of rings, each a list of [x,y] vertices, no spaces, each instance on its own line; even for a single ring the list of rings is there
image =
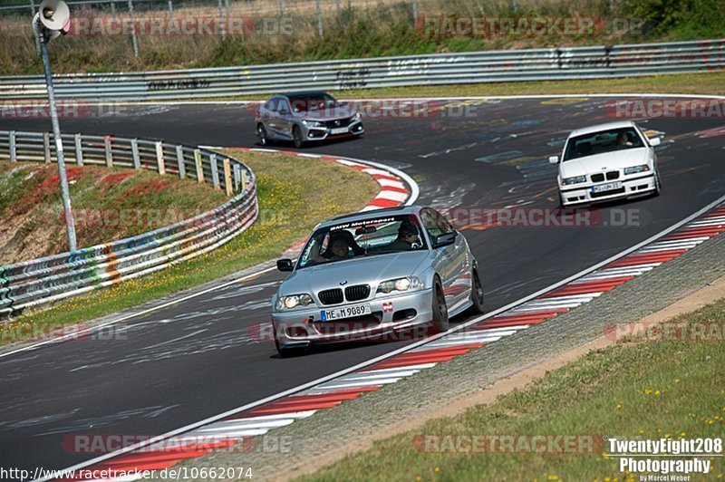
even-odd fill
[[[53,162],[53,135],[0,131],[0,159]],[[237,159],[160,140],[63,135],[66,163],[154,169],[196,178],[234,196],[222,206],[139,236],[0,266],[0,317],[149,275],[222,246],[258,215],[256,179]]]

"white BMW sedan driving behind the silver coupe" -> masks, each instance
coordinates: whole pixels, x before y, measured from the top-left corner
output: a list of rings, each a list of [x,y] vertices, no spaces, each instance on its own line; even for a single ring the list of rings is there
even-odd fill
[[[660,193],[657,156],[659,138],[647,138],[633,121],[578,129],[569,134],[557,181],[563,207]]]

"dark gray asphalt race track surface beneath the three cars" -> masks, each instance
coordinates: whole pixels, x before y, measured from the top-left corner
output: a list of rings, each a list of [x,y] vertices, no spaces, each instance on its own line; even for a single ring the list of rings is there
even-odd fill
[[[556,169],[546,158],[559,153],[570,130],[614,120],[604,108],[611,101],[450,101],[429,117],[367,118],[362,139],[304,150],[403,169],[420,184],[419,204],[554,209]],[[210,146],[256,143],[244,105],[131,106],[120,114],[63,119],[62,127]],[[658,148],[662,196],[597,207],[590,226],[465,227],[487,309],[594,265],[720,197],[725,129],[720,135],[714,129],[724,124],[642,121],[645,129],[664,133]],[[10,129],[50,130],[50,122],[0,119],[0,130]],[[620,226],[622,219],[629,222]],[[0,467],[69,467],[99,455],[77,453],[74,442],[84,436],[158,435],[405,343],[359,343],[279,359],[273,342],[256,339],[254,326],[269,321],[269,299],[282,279],[273,273],[228,286],[121,323],[115,336],[101,333],[0,358]]]

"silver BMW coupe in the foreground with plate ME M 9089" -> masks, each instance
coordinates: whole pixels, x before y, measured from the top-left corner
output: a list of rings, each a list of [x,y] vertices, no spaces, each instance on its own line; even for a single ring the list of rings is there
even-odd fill
[[[336,217],[315,227],[272,298],[282,356],[314,343],[384,340],[417,327],[449,329],[449,316],[483,313],[483,286],[466,238],[430,207]]]

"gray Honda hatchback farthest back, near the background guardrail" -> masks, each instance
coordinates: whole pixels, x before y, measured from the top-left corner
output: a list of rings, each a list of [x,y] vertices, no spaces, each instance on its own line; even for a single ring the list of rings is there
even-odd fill
[[[305,142],[360,137],[362,116],[327,92],[293,92],[272,96],[256,111],[256,136],[263,146],[274,140]]]

